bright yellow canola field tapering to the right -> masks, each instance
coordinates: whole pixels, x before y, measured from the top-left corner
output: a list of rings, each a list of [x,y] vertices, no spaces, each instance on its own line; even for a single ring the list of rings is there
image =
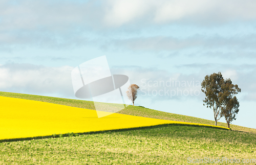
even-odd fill
[[[202,125],[118,113],[98,118],[95,110],[0,97],[0,139],[114,130],[172,123]]]

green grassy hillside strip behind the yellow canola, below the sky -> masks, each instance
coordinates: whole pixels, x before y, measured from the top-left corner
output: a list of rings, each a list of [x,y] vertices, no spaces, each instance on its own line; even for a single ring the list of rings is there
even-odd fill
[[[83,101],[83,100],[74,100],[74,99],[63,99],[63,98],[54,98],[54,97],[46,97],[46,96],[37,96],[37,95],[27,95],[22,93],[11,93],[11,92],[1,92],[0,96],[11,97],[11,98],[19,98],[19,99],[27,99],[27,100],[35,100],[42,101],[60,105],[67,105],[78,108],[86,108],[86,109],[94,109],[94,104],[92,101]],[[214,125],[214,121],[200,119],[198,117],[191,117],[181,114],[162,112],[158,110],[148,109],[140,106],[129,106],[117,113],[120,114],[129,114],[134,116],[142,116],[142,117],[150,117],[154,119],[163,119],[163,120],[171,120],[171,121],[179,121],[179,122],[189,122],[189,123],[200,123],[200,124],[208,124]],[[227,127],[226,123],[218,122],[218,126]],[[237,125],[230,125],[230,128],[234,131],[244,131],[244,132],[253,132],[256,133],[256,129],[247,128]]]

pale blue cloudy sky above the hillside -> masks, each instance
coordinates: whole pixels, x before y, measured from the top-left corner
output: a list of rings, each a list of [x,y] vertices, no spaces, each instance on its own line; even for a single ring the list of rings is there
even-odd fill
[[[232,124],[256,128],[256,2],[0,0],[0,91],[77,99],[71,72],[106,56],[135,105],[214,120],[201,82],[242,89]],[[220,122],[225,122],[221,119]]]

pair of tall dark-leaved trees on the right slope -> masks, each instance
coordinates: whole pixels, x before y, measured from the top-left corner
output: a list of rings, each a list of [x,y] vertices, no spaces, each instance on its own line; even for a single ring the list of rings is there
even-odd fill
[[[201,86],[205,93],[203,105],[214,110],[215,125],[224,116],[229,128],[239,111],[239,102],[234,95],[241,92],[241,89],[238,85],[233,85],[230,79],[224,80],[220,72],[205,76]]]

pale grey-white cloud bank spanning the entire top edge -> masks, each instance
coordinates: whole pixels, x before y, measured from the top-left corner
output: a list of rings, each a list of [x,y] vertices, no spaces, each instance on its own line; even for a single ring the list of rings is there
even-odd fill
[[[101,29],[136,22],[140,26],[185,20],[200,24],[255,20],[256,2],[210,0],[109,0],[0,2],[0,30],[48,29],[65,31],[74,26]]]

